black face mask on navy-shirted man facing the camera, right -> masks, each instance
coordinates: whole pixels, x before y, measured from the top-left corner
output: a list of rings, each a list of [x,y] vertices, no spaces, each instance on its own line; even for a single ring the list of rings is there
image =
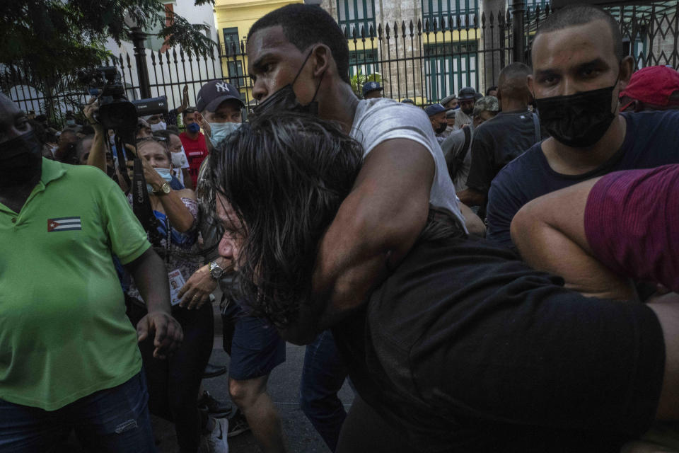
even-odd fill
[[[569,96],[535,99],[540,122],[559,143],[573,148],[596,144],[615,120],[613,86]]]

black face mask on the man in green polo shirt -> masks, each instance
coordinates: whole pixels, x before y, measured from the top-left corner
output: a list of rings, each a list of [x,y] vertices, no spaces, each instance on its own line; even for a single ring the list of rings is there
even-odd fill
[[[30,131],[0,144],[0,187],[28,183],[42,168],[42,145]]]

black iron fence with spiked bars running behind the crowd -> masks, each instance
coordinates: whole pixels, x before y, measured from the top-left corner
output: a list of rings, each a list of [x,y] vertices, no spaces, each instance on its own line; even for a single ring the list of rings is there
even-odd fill
[[[535,3],[535,2],[533,2]],[[523,7],[514,0],[512,11],[464,15],[429,14],[395,23],[342,25],[349,42],[349,76],[361,96],[361,86],[380,81],[384,96],[411,98],[418,105],[438,102],[464,86],[483,91],[497,82],[502,67],[513,61],[528,61],[535,30],[551,11],[549,6]],[[637,68],[666,64],[679,67],[679,14],[676,1],[644,6],[608,8],[620,22],[627,55]],[[367,26],[366,26],[367,25]],[[181,103],[187,85],[190,103],[200,86],[225,79],[238,87],[243,102],[253,106],[252,82],[248,76],[245,42],[219,43],[211,55],[168,49],[146,53],[148,80],[142,87],[134,55],[112,55],[103,64],[117,67],[128,98],[166,95],[170,108]],[[144,82],[146,84],[146,82]],[[18,101],[23,110],[43,113],[55,124],[66,110],[79,110],[86,101],[85,87],[73,74],[35,74],[25,67],[0,68],[0,90]]]

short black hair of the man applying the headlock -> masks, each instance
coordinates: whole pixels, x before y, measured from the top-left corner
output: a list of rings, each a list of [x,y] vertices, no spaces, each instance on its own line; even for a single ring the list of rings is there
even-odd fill
[[[330,47],[332,58],[337,64],[337,74],[349,84],[349,45],[340,25],[318,6],[291,4],[262,16],[248,32],[248,40],[262,28],[280,25],[285,37],[300,52],[310,45],[321,44]]]

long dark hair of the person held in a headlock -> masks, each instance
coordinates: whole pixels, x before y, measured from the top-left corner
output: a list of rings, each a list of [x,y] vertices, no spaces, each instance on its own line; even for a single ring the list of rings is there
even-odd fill
[[[253,315],[283,327],[308,303],[318,242],[362,161],[339,127],[301,113],[262,115],[210,154],[209,178],[243,226],[236,282]]]

